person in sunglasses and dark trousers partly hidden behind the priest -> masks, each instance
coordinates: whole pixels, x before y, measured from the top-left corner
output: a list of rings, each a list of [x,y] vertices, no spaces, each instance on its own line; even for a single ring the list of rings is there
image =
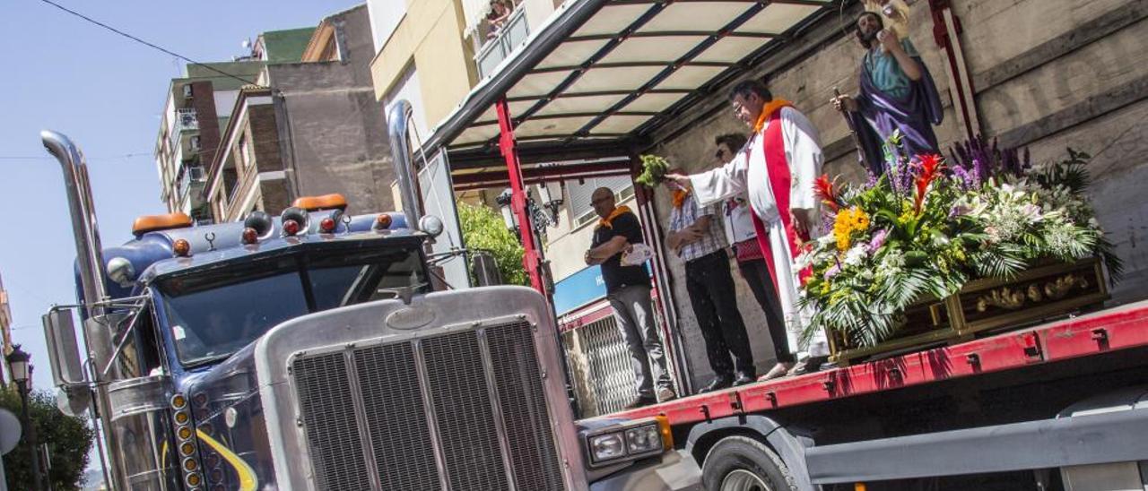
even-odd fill
[[[727,133],[719,135],[714,143],[718,151],[714,158],[718,166],[728,164],[737,156],[737,153],[745,147],[746,139],[738,133]],[[753,210],[745,195],[734,196],[726,200],[723,206],[726,216],[726,239],[732,247],[734,257],[737,258],[737,268],[745,279],[745,283],[753,291],[753,298],[761,305],[761,311],[766,314],[766,328],[769,329],[769,338],[774,344],[774,357],[777,364],[774,365],[763,379],[776,379],[785,375],[793,363],[793,353],[789,350],[789,341],[785,335],[785,321],[782,320],[782,304],[777,301],[777,291],[774,283],[769,281],[769,267],[766,266],[766,256],[758,246],[758,229],[753,226]]]

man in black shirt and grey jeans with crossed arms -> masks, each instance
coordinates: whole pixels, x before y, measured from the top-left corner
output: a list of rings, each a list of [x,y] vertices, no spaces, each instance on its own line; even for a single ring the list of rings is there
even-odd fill
[[[637,377],[638,397],[626,408],[642,407],[677,397],[674,393],[666,353],[658,337],[658,326],[650,301],[650,273],[645,265],[625,266],[622,252],[642,243],[642,224],[627,206],[615,206],[614,192],[595,189],[590,195],[594,212],[602,219],[594,229],[594,241],[585,251],[585,264],[600,265],[606,298],[614,309],[618,328],[630,351],[630,365]],[[651,361],[653,372],[651,373]],[[654,391],[654,384],[658,390]]]

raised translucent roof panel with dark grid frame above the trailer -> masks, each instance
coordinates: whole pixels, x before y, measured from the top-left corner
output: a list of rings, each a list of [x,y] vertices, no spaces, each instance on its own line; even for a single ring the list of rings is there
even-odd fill
[[[505,98],[523,163],[628,156],[839,1],[568,1],[425,148],[448,149],[456,174],[501,165],[492,106]]]

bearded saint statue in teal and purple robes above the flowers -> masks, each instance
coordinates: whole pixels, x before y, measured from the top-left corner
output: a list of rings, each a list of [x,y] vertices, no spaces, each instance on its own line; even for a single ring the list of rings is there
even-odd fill
[[[889,7],[894,18],[903,17],[903,14],[898,16],[892,3]],[[852,120],[866,165],[881,176],[886,155],[913,157],[939,153],[932,127],[944,118],[940,96],[913,42],[900,39],[894,29],[885,29],[882,14],[876,11],[858,16],[856,37],[866,48],[860,94],[841,95],[831,102]],[[894,132],[901,134],[900,146],[885,145]]]

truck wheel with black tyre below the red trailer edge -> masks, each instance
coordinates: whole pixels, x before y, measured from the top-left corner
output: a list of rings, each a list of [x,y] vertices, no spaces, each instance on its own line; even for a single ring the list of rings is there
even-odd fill
[[[766,444],[745,436],[718,442],[701,466],[707,491],[797,491],[789,468]]]

